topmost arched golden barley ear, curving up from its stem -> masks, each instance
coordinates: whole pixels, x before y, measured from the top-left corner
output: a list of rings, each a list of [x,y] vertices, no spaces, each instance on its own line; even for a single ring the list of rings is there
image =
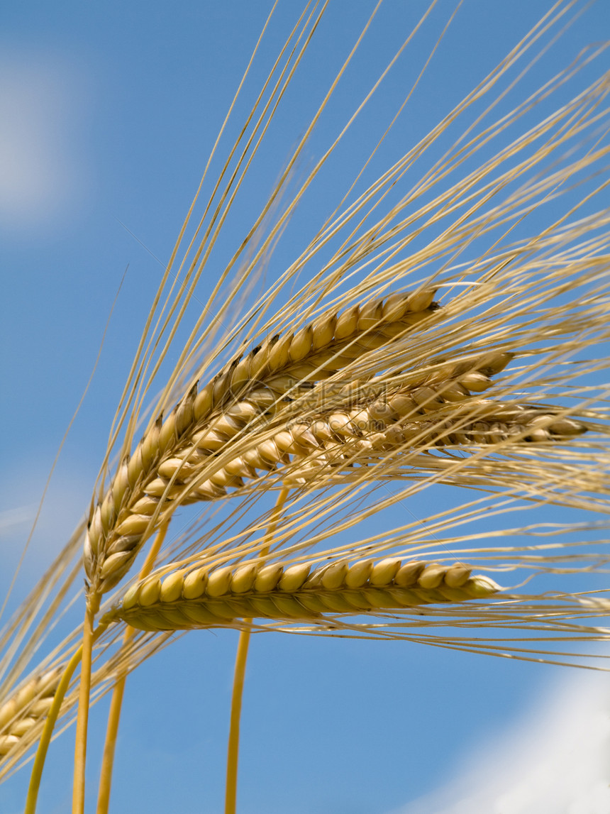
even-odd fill
[[[202,457],[208,461],[229,438],[268,414],[296,383],[326,379],[364,352],[412,330],[438,311],[433,298],[434,290],[394,294],[341,314],[325,313],[295,334],[265,340],[205,387],[193,387],[167,418],[159,417],[150,427],[91,514],[83,560],[92,592],[105,593],[122,579],[162,522],[160,513],[172,510],[168,501],[184,491],[166,490],[163,473],[171,470],[172,460],[196,449],[197,460],[181,463],[187,475],[189,467],[201,466]],[[232,477],[227,472],[216,477],[226,483],[200,484],[192,499],[220,497]]]

